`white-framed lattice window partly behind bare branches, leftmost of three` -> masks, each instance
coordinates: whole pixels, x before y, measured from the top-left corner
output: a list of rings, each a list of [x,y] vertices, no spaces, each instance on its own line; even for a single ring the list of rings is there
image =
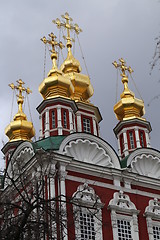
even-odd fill
[[[102,240],[103,204],[93,188],[80,185],[73,194],[76,240]]]

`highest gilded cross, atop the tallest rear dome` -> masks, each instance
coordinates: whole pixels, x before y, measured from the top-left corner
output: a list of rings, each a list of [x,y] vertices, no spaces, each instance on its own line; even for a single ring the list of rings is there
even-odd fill
[[[62,18],[64,20],[60,21],[59,18],[57,18],[56,20],[53,20],[52,22],[55,23],[57,25],[57,28],[65,28],[67,29],[67,36],[64,36],[65,39],[67,39],[67,47],[72,47],[71,41],[74,41],[71,37],[70,37],[70,31],[75,31],[76,34],[79,34],[80,32],[82,32],[82,29],[79,28],[78,24],[72,24],[73,19],[69,16],[69,14],[66,12],[64,15],[62,15]]]

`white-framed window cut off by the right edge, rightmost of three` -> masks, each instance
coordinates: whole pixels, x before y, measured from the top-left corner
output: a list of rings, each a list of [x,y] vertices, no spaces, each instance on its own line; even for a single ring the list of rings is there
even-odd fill
[[[160,201],[150,200],[145,209],[149,240],[160,239]]]

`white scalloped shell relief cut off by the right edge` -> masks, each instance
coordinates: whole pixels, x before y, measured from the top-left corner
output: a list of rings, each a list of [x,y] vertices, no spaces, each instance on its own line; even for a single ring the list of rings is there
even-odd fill
[[[160,178],[160,159],[152,155],[142,154],[131,162],[132,172],[143,176]]]

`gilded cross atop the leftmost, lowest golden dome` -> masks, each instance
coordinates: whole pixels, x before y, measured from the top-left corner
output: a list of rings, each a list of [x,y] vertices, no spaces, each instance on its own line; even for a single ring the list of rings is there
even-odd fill
[[[19,106],[19,112],[22,112],[22,104],[23,104],[23,92],[26,92],[27,94],[30,94],[32,93],[32,91],[30,90],[30,88],[25,88],[23,87],[23,85],[25,84],[21,79],[17,80],[16,81],[18,83],[18,85],[14,85],[13,83],[9,84],[9,86],[12,88],[12,89],[16,89],[18,91],[18,94],[17,94],[17,103],[18,103],[18,106]]]

